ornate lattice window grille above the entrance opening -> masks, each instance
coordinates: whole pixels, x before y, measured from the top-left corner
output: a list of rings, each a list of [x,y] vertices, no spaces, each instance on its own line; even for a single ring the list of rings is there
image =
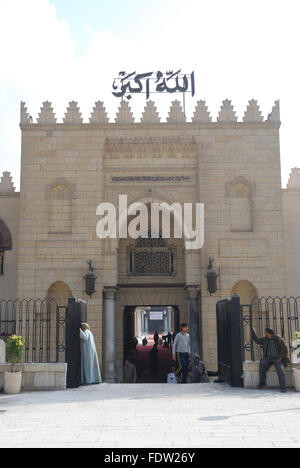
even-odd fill
[[[175,250],[166,239],[140,237],[129,253],[129,273],[136,276],[172,276],[175,274]]]

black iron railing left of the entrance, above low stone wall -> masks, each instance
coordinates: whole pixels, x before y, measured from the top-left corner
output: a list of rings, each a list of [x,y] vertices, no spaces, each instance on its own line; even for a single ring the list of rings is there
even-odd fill
[[[65,317],[54,299],[0,300],[0,337],[25,338],[24,363],[64,361]]]

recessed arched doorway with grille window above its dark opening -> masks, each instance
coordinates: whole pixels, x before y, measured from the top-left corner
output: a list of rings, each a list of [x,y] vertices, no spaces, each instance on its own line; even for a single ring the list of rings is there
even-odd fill
[[[116,365],[118,381],[122,381],[124,359],[130,355],[129,347],[136,337],[139,354],[131,356],[137,361],[140,381],[166,382],[168,367],[172,365],[171,350],[156,376],[149,376],[149,353],[153,347],[153,334],[163,336],[176,333],[179,321],[188,319],[186,286],[186,258],[184,239],[175,236],[175,215],[170,213],[170,236],[163,236],[162,216],[159,223],[151,223],[151,203],[159,200],[142,200],[147,206],[149,223],[141,227],[140,237],[121,239],[118,248],[118,290],[116,298]],[[131,222],[129,216],[128,223]],[[169,312],[168,309],[170,308]],[[151,324],[149,317],[151,313]],[[159,318],[158,314],[163,317]],[[147,315],[147,317],[145,317]],[[155,320],[158,318],[158,320]],[[147,326],[145,321],[147,321]],[[123,333],[120,333],[120,330]],[[148,346],[143,347],[146,338]],[[151,346],[152,345],[152,346]],[[132,353],[131,353],[132,354]],[[141,359],[141,355],[143,358]]]

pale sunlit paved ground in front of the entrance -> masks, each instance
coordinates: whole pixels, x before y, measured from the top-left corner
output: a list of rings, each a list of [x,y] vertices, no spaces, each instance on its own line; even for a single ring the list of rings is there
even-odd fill
[[[300,447],[300,396],[225,385],[0,395],[0,447]]]

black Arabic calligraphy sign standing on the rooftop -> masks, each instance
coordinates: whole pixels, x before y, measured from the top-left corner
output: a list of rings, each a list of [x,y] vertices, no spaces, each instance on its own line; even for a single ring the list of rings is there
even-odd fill
[[[158,71],[148,73],[126,73],[121,71],[119,77],[113,82],[112,94],[115,97],[130,100],[133,94],[146,94],[146,99],[152,93],[191,93],[195,95],[195,73],[183,74],[181,70],[176,72]]]

